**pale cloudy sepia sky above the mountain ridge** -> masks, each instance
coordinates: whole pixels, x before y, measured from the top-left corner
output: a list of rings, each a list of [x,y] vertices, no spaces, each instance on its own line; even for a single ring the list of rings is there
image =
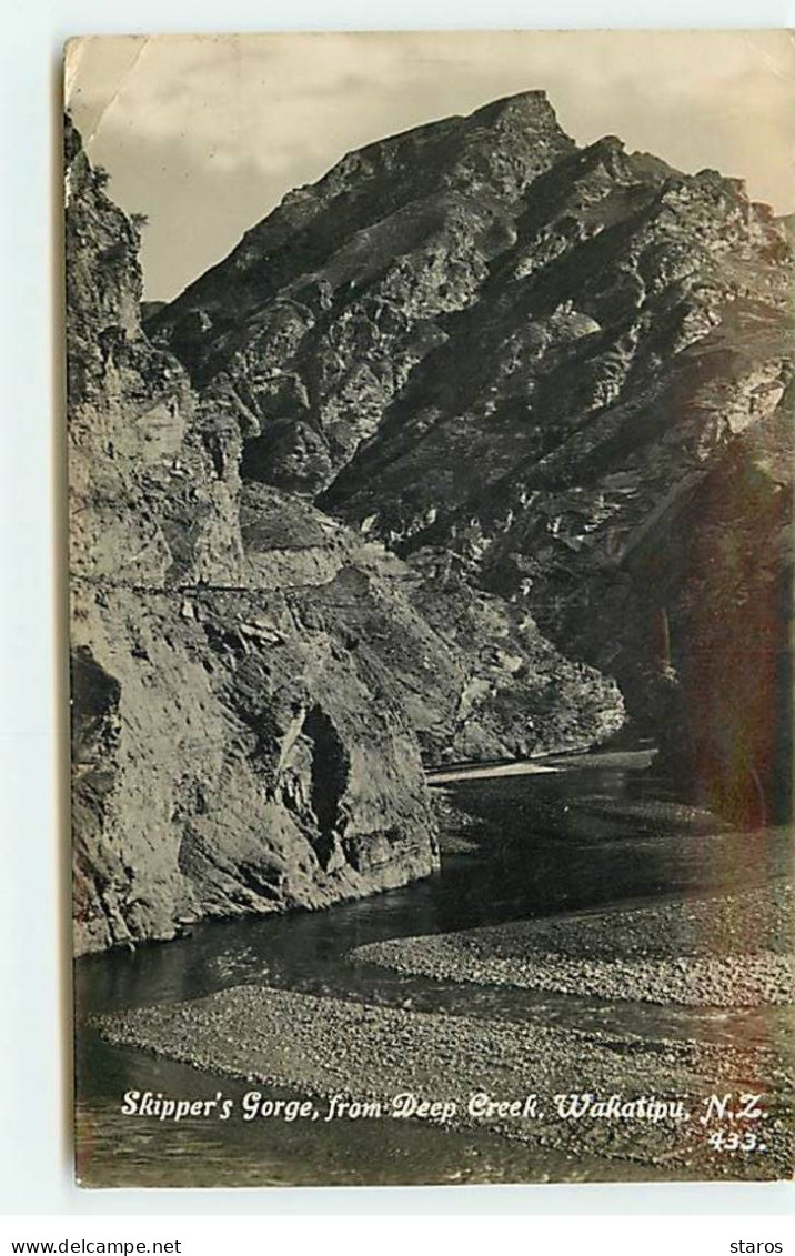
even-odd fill
[[[462,31],[73,40],[67,107],[143,230],[144,295],[170,300],[285,192],[345,152],[541,88],[563,128],[795,210],[795,35]]]

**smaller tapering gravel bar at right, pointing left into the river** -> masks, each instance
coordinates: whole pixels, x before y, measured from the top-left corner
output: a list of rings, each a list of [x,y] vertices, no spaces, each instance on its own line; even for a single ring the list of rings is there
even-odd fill
[[[792,1001],[792,891],[774,884],[397,938],[353,958],[445,981],[710,1007]]]

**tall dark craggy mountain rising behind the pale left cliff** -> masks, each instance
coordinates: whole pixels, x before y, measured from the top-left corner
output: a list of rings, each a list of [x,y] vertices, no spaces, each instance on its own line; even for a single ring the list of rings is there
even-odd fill
[[[526,93],[347,156],[147,327],[245,406],[247,482],[384,541],[431,620],[446,578],[538,623],[759,824],[791,775],[790,236]]]

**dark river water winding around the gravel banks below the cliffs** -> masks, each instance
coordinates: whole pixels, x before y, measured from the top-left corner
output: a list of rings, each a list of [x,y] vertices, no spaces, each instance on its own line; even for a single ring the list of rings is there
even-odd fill
[[[725,830],[678,804],[648,771],[583,769],[450,786],[448,799],[485,828],[462,831],[466,853],[406,889],[265,919],[198,926],[191,937],[77,966],[77,1006],[93,1011],[195,999],[251,982],[368,1004],[445,1011],[652,1037],[765,1041],[770,1012],[695,1011],[402,976],[352,962],[367,942],[559,912],[659,901],[681,893],[762,884],[787,869],[787,843],[771,830]],[[472,840],[472,834],[476,840]],[[461,843],[457,844],[461,848]],[[466,850],[466,847],[472,849]],[[775,1027],[775,1026],[774,1026]],[[178,1129],[118,1113],[128,1089],[236,1095],[227,1079],[142,1053],[109,1048],[88,1029],[78,1041],[82,1173],[102,1184],[329,1184],[358,1182],[609,1179],[607,1164],[471,1132],[360,1122],[305,1128],[193,1123]],[[146,1127],[146,1128],[141,1128]],[[320,1132],[319,1132],[320,1130]],[[632,1171],[622,1168],[622,1177]],[[638,1171],[637,1176],[648,1176]]]

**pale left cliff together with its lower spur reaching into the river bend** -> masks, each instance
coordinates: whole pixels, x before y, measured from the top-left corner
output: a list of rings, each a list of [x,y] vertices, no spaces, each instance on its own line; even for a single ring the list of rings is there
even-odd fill
[[[289,491],[301,476],[241,477],[255,389],[197,389],[144,334],[137,229],[69,122],[65,157],[78,952],[426,875],[421,756],[588,746],[622,723],[615,683],[451,556],[408,566]],[[475,157],[462,139],[462,180]],[[399,198],[402,167],[368,161]],[[269,396],[299,394],[271,349],[269,371]]]

